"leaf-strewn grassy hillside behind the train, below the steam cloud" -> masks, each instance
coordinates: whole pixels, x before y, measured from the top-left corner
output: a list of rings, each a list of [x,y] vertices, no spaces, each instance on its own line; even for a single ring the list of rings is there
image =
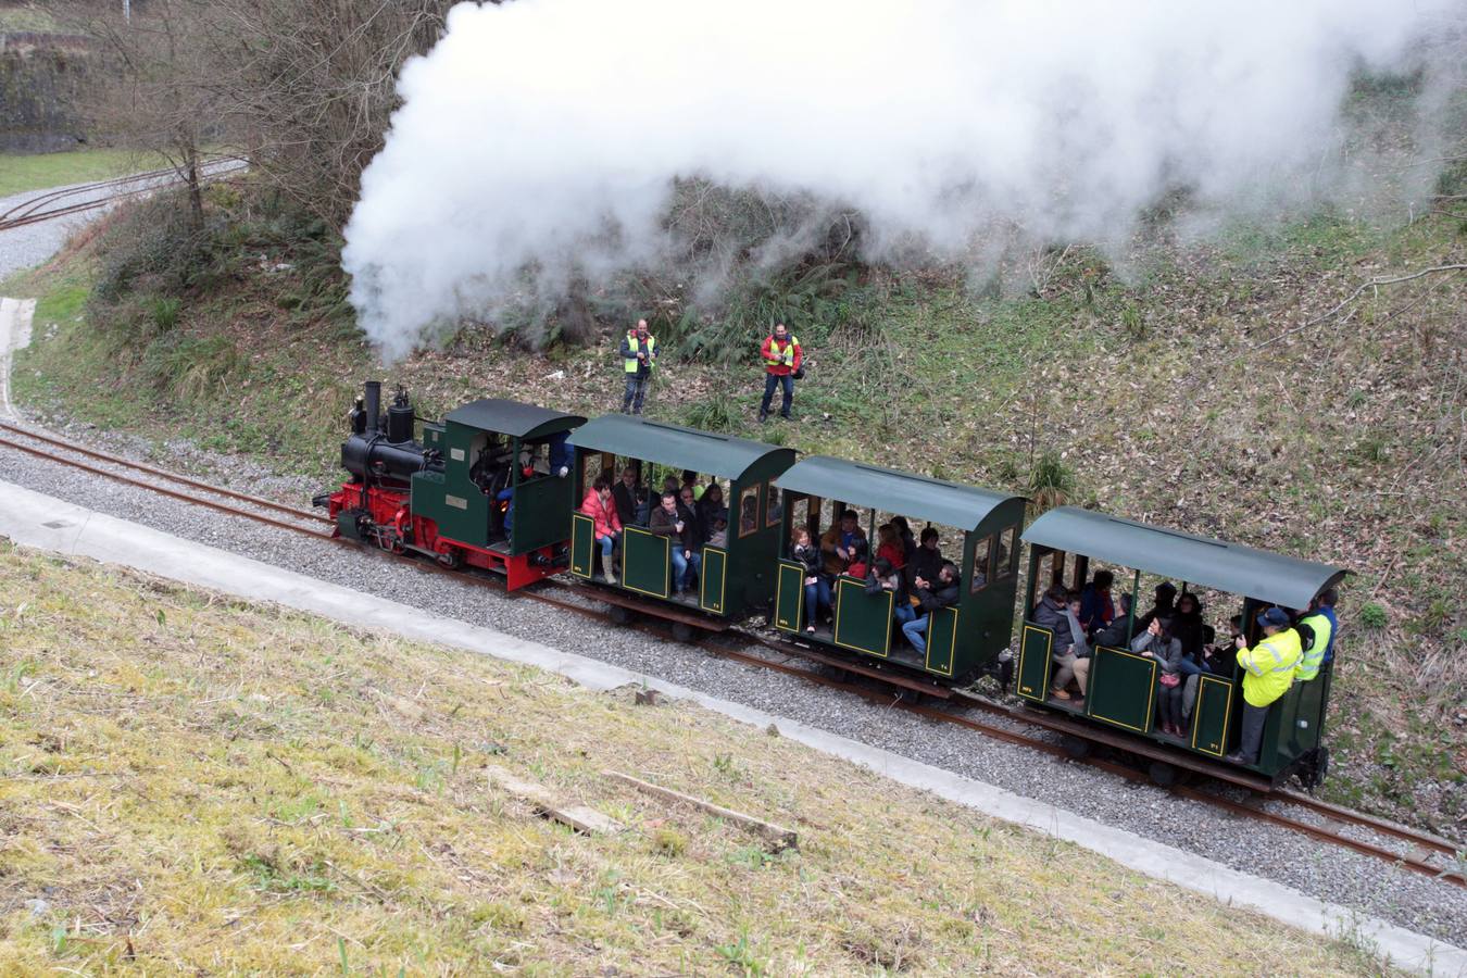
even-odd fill
[[[21,397],[323,484],[367,374],[428,416],[484,393],[619,403],[613,334],[537,352],[467,328],[383,371],[330,235],[211,194],[219,227],[183,264],[119,243],[167,224],[141,211],[12,283],[43,298]],[[811,350],[795,422],[754,421],[754,334],[735,368],[678,361],[669,339],[650,413],[1020,491],[1040,478],[1080,504],[1350,567],[1328,793],[1463,837],[1467,220],[1448,204],[1405,217],[1237,227],[1125,270],[1055,249],[986,292],[867,268],[794,323]]]

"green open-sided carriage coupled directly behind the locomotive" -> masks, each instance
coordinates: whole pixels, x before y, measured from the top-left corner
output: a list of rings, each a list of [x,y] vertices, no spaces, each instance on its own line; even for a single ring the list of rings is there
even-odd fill
[[[698,587],[689,597],[673,597],[670,538],[644,525],[622,531],[618,589],[725,620],[767,607],[779,550],[779,515],[772,510],[778,497],[770,482],[795,460],[794,449],[631,415],[597,418],[581,427],[569,443],[575,449],[577,509],[597,475],[609,471],[615,479],[626,465],[637,469],[638,485],[650,496],[659,488],[651,484],[653,466],[692,471],[728,485],[728,541],[723,547],[703,547]],[[575,512],[571,523],[571,573],[590,581],[596,573],[594,522]],[[697,623],[697,619],[687,622]]]

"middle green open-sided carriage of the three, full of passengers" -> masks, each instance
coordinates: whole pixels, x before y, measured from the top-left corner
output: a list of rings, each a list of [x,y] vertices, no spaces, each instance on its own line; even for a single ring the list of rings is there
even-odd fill
[[[802,459],[779,477],[783,519],[779,528],[779,587],[773,625],[800,641],[858,652],[952,680],[973,676],[1009,645],[1014,630],[1014,597],[1018,589],[1018,534],[1024,497],[945,482],[896,469],[826,456]],[[896,595],[867,594],[866,581],[841,575],[832,585],[832,628],[802,632],[805,609],[804,569],[791,560],[794,529],[804,525],[820,538],[826,501],[832,519],[846,506],[870,510],[867,540],[874,551],[876,513],[951,526],[962,534],[958,565],[959,600],[939,609],[927,628],[926,652],[918,654],[895,623]]]

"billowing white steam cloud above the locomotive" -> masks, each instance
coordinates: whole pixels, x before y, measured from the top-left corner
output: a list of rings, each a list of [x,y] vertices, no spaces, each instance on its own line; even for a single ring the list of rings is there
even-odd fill
[[[396,358],[572,279],[656,267],[673,177],[860,211],[867,257],[992,229],[1115,242],[1317,199],[1358,69],[1413,70],[1464,0],[464,3],[362,176],[343,264]],[[1460,48],[1458,48],[1460,53]]]

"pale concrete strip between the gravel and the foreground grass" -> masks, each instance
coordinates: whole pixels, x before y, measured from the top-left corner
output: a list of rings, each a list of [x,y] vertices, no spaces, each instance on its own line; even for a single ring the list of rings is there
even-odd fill
[[[1432,975],[1467,975],[1467,950],[1376,918],[1360,916],[1347,908],[1323,903],[1270,880],[1238,872],[1053,805],[1021,798],[992,784],[918,764],[760,710],[665,683],[651,676],[640,676],[491,629],[425,614],[408,606],[136,526],[10,482],[0,482],[0,535],[18,544],[135,567],[252,601],[271,601],[356,628],[376,628],[421,642],[452,645],[538,666],[590,689],[604,691],[645,683],[669,696],[697,702],[735,720],[758,727],[776,724],[786,738],[864,764],[892,780],[930,790],[987,815],[1072,842],[1149,877],[1232,906],[1266,913],[1307,931],[1328,937],[1354,937],[1373,946],[1379,955],[1389,956],[1397,966]]]

